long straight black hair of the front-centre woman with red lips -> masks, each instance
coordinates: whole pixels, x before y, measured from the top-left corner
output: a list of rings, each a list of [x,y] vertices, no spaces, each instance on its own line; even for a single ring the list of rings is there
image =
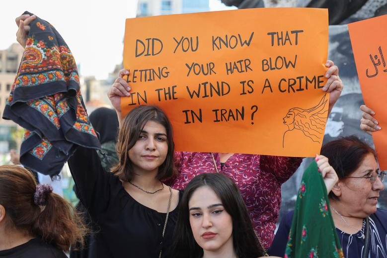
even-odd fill
[[[184,189],[179,207],[179,217],[174,231],[174,258],[200,258],[203,249],[196,243],[189,223],[188,202],[202,186],[210,187],[221,199],[232,217],[232,241],[237,257],[257,258],[263,252],[255,236],[247,208],[235,183],[220,173],[203,173],[195,176]]]

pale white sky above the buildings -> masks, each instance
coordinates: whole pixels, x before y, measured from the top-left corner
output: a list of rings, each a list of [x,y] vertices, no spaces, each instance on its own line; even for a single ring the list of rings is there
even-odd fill
[[[7,0],[8,1],[8,0]],[[194,0],[193,0],[194,1]],[[50,22],[66,41],[82,76],[107,79],[122,62],[125,19],[136,17],[137,0],[66,0],[37,3],[12,0],[0,15],[0,49],[16,43],[15,18],[24,11]],[[211,10],[226,10],[220,0],[210,0]]]

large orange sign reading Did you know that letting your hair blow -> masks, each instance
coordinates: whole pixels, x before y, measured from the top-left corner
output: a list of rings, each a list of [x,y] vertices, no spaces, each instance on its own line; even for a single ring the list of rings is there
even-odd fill
[[[329,95],[328,12],[253,8],[126,20],[131,96],[160,106],[176,150],[314,156]]]

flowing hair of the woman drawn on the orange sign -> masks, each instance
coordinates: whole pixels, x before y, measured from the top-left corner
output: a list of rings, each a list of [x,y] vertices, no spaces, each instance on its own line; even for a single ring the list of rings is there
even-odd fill
[[[288,111],[295,114],[294,128],[301,130],[313,142],[319,143],[319,139],[324,135],[324,125],[328,116],[328,111],[324,110],[328,102],[325,97],[326,93],[322,96],[320,102],[310,109],[293,107]]]

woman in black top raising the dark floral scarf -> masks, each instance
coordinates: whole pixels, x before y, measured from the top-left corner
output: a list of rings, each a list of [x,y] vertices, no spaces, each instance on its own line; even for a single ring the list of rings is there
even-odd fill
[[[34,18],[16,18],[22,46]],[[119,162],[111,172],[105,171],[95,149],[77,146],[68,164],[79,200],[100,229],[95,250],[89,250],[95,258],[171,257],[180,192],[162,181],[174,172],[172,136],[160,108],[137,106],[120,121]]]

